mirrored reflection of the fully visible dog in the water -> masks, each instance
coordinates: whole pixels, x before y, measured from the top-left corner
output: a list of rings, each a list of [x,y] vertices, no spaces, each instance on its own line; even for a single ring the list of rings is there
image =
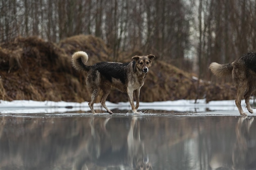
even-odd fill
[[[110,118],[91,119],[91,137],[84,142],[86,146],[79,149],[79,156],[76,158],[72,169],[152,170],[144,142],[140,140],[137,117],[132,118],[128,134],[124,136],[122,133],[115,140],[111,138],[111,135],[114,134],[110,134],[106,129],[109,120]],[[122,141],[123,144],[120,144]]]

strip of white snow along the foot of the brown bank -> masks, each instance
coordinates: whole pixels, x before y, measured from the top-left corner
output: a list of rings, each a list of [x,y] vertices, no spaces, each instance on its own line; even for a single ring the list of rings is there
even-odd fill
[[[251,100],[253,102],[253,100]],[[197,100],[176,100],[165,102],[140,102],[139,110],[167,110],[177,112],[203,112],[207,110],[237,110],[234,100],[211,101],[206,103],[205,99]],[[117,104],[106,102],[110,110],[130,110],[129,102],[119,102]],[[242,106],[245,107],[244,100]],[[105,110],[100,103],[94,104],[94,109]],[[53,101],[33,101],[14,100],[11,102],[0,100],[0,113],[65,113],[90,111],[88,102],[53,102]]]

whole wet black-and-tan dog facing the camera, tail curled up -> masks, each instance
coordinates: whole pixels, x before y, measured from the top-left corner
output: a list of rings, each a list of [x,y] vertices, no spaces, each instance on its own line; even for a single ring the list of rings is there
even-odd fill
[[[88,72],[86,85],[91,94],[89,107],[92,113],[95,113],[93,104],[99,95],[103,92],[101,105],[112,114],[105,102],[110,93],[111,87],[127,93],[132,112],[137,113],[139,107],[140,88],[144,85],[144,79],[148,69],[152,64],[154,55],[132,57],[130,63],[120,62],[98,62],[92,66],[85,65],[88,61],[87,53],[78,51],[72,55],[72,64],[77,71]],[[136,106],[133,101],[133,92],[135,91]]]

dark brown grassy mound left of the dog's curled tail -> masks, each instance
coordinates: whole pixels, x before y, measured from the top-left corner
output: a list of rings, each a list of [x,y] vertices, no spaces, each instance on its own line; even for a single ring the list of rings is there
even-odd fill
[[[74,76],[77,74],[71,66],[71,56],[52,42],[36,37],[17,38],[2,44],[0,55],[1,99],[81,102],[80,96],[87,95]]]

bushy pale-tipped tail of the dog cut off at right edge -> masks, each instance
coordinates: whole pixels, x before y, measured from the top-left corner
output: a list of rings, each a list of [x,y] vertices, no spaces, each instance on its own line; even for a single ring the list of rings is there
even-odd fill
[[[209,69],[217,77],[231,76],[232,70],[233,70],[233,65],[232,65],[232,63],[218,64],[216,62],[212,62],[209,66]]]

